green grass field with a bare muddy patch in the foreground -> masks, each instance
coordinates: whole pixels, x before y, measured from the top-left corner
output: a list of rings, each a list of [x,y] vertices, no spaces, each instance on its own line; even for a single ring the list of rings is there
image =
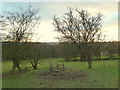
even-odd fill
[[[118,60],[93,61],[88,70],[87,62],[64,62],[65,71],[52,75],[49,62],[63,59],[40,60],[37,70],[10,74],[12,62],[2,63],[3,88],[118,88]],[[44,63],[43,63],[44,62]],[[30,65],[30,64],[28,64]],[[25,66],[25,64],[24,64]],[[24,67],[22,66],[22,67]]]

